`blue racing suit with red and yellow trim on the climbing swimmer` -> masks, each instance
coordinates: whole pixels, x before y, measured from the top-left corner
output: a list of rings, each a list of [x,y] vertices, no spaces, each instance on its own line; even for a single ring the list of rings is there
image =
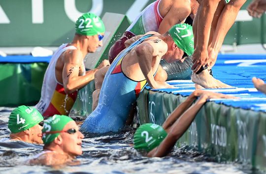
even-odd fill
[[[99,104],[81,125],[81,131],[91,133],[117,132],[125,126],[130,109],[146,80],[133,81],[122,72],[125,56],[153,34],[145,35],[122,51],[108,69],[100,91]]]

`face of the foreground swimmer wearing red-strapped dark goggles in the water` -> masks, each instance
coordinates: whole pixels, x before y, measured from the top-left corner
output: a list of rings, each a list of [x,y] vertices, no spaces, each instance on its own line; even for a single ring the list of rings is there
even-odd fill
[[[63,151],[71,156],[77,156],[82,154],[81,143],[82,139],[84,138],[83,134],[79,132],[78,126],[76,125],[75,121],[70,121],[64,127],[64,130],[72,130],[75,129],[75,133],[73,131],[63,132],[60,133],[62,137],[62,144],[61,147]]]

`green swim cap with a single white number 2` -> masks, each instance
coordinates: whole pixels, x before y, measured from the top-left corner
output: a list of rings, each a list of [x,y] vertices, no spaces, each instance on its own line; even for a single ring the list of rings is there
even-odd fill
[[[166,136],[162,126],[153,123],[142,124],[134,134],[134,148],[149,152],[160,145]]]

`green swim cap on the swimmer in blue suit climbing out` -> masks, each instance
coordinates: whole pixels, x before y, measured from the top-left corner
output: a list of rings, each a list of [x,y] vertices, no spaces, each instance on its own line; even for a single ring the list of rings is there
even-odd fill
[[[168,32],[178,48],[183,50],[188,56],[193,54],[194,35],[191,25],[176,24]]]

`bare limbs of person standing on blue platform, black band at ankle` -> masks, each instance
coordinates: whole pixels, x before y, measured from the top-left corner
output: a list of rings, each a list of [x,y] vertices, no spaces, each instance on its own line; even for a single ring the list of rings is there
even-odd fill
[[[246,0],[198,0],[193,21],[195,51],[192,81],[204,88],[228,88],[208,72],[214,66],[224,38]],[[204,17],[202,17],[204,16]]]

